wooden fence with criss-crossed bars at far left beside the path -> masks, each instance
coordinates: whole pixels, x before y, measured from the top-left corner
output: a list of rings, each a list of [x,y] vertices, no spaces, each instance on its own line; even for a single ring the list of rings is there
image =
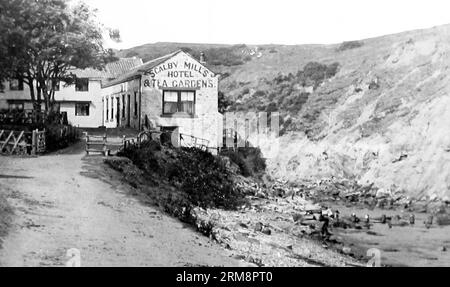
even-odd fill
[[[0,130],[0,154],[36,155],[45,152],[45,129],[32,132]]]

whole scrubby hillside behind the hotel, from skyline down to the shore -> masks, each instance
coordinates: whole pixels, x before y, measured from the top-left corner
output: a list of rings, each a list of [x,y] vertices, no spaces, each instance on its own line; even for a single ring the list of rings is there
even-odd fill
[[[213,68],[231,109],[282,113],[272,175],[449,199],[450,25],[346,44],[177,47],[231,51],[242,61]],[[317,77],[333,63],[335,73]]]

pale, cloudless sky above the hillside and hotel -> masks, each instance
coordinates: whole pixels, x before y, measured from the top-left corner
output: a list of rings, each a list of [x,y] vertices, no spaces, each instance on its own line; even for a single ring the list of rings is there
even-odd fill
[[[448,0],[84,0],[125,49],[155,42],[332,44],[450,23]]]

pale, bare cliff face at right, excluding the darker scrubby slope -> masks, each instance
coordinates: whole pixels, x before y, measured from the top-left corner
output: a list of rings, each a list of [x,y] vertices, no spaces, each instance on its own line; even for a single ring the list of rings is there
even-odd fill
[[[269,172],[448,200],[450,26],[369,39],[332,60],[340,71],[308,98]]]

